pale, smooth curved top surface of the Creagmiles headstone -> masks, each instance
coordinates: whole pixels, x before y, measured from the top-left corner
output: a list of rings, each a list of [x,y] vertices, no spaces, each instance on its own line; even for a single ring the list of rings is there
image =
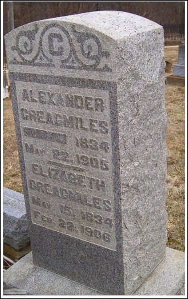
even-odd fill
[[[38,24],[40,22],[43,23],[49,21],[71,22],[89,27],[90,29],[97,30],[115,40],[162,27],[145,17],[133,13],[102,10],[44,19],[28,23],[21,26],[21,28],[30,24]],[[14,29],[14,31],[18,28]]]

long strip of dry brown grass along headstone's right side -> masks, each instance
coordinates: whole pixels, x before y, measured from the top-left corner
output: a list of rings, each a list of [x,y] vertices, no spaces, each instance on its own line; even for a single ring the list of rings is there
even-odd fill
[[[185,87],[167,85],[168,246],[185,250]]]

